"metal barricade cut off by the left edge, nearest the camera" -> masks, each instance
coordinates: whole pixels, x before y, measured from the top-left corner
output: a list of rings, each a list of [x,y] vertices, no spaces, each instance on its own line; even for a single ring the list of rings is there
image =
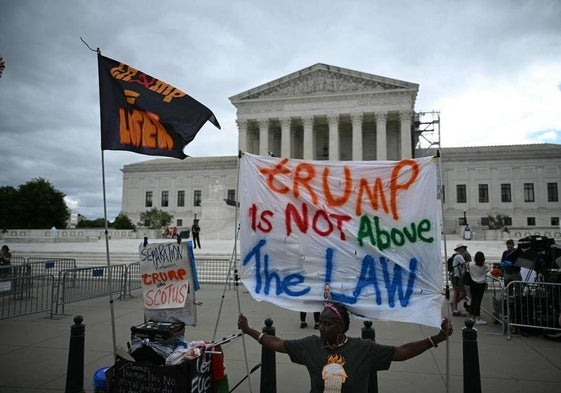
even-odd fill
[[[43,311],[52,318],[54,282],[52,274],[0,279],[0,319]]]

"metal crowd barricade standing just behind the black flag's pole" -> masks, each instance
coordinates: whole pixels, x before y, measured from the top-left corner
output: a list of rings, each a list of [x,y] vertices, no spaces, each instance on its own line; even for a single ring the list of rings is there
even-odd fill
[[[63,270],[59,273],[56,294],[56,311],[64,314],[64,306],[68,303],[94,299],[109,295],[109,269],[111,269],[111,292],[119,293],[125,288],[126,265],[112,265],[111,267],[84,267]]]

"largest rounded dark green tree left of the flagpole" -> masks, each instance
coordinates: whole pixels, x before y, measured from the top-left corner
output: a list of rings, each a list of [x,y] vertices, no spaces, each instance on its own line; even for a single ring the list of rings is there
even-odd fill
[[[70,210],[64,202],[66,195],[45,179],[33,179],[17,189],[13,206],[13,227],[48,229],[66,228]]]

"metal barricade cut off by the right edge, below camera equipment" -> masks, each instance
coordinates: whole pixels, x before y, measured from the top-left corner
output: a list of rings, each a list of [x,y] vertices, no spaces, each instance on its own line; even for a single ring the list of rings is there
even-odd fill
[[[505,290],[507,338],[511,326],[561,331],[558,317],[561,311],[561,283],[512,281]]]

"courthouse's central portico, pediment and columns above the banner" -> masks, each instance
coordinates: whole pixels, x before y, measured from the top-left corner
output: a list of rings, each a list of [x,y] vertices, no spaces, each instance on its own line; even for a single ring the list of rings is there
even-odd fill
[[[412,156],[419,85],[315,64],[230,97],[239,150],[306,160]]]

